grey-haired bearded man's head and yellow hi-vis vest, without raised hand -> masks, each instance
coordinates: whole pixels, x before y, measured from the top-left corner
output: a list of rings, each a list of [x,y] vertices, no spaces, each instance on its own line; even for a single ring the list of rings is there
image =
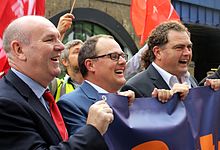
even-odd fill
[[[78,67],[78,54],[82,45],[81,40],[72,40],[65,44],[60,57],[60,68],[65,73],[65,77],[54,78],[49,85],[56,101],[60,96],[72,92],[84,80]]]

